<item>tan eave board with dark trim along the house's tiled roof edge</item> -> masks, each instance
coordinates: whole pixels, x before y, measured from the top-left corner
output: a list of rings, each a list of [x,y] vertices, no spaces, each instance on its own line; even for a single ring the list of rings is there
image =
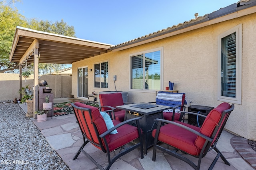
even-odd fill
[[[150,35],[149,37],[144,37],[142,39],[138,39],[136,41],[132,41],[132,42],[129,42],[129,43],[124,44],[124,45],[120,45],[120,46],[117,46],[117,47],[112,47],[112,51],[113,52],[114,51],[121,51],[121,50],[128,49],[128,48],[131,48],[131,47],[136,47],[138,45],[143,45],[143,44],[146,44],[146,43],[150,43],[150,42],[157,41],[159,39],[163,39],[163,38],[166,38],[166,37],[171,37],[173,35],[178,35],[180,33],[185,33],[187,31],[192,31],[194,29],[198,29],[198,28],[201,28],[201,27],[205,27],[205,26],[208,26],[208,25],[215,24],[215,23],[220,23],[222,21],[232,20],[234,18],[246,16],[248,14],[253,14],[256,11],[256,2],[252,2],[251,4],[240,6],[238,8],[235,8],[235,10],[231,10],[231,8],[235,7],[234,5],[236,5],[236,3],[228,6],[229,10],[226,13],[222,12],[222,16],[220,15],[220,13],[218,13],[218,14],[216,13],[215,15],[210,16],[211,18],[200,20],[200,21],[197,21],[197,22],[194,22],[194,23],[188,23],[184,26],[172,28],[172,29],[170,29],[168,31],[164,31],[162,33],[156,33],[156,35]]]

